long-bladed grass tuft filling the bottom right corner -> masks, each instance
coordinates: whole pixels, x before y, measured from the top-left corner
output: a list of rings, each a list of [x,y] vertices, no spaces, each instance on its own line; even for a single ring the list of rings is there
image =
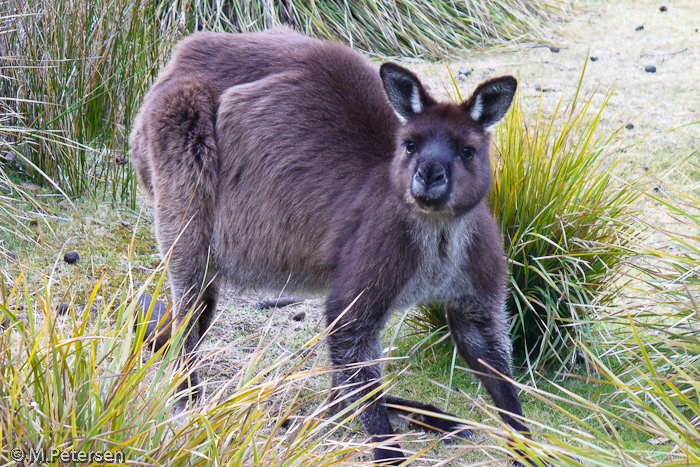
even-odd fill
[[[672,196],[651,196],[680,229],[656,232],[662,246],[647,249],[636,304],[601,315],[592,344],[605,351],[586,355],[595,397],[523,388],[566,419],[533,443],[556,465],[700,465],[700,199],[666,188]]]

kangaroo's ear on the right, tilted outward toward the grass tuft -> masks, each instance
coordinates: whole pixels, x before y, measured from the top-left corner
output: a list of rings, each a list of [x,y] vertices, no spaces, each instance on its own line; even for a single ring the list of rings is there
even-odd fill
[[[508,112],[517,87],[518,81],[512,76],[484,81],[476,88],[472,97],[462,103],[462,108],[489,132]]]

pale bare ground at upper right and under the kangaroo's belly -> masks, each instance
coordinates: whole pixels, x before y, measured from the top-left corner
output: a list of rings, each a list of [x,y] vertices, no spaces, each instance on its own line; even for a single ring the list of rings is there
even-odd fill
[[[666,3],[666,12],[660,11],[661,5],[651,1],[585,2],[586,12],[560,26],[556,53],[546,46],[517,46],[467,52],[466,58],[448,65],[405,62],[441,99],[448,98],[446,91],[453,86],[448,66],[455,77],[460,71],[466,72],[467,76],[462,75],[457,81],[464,97],[485,79],[515,75],[525,110],[533,116],[540,99],[545,114],[563,95],[564,103],[568,102],[585,65],[584,94],[598,90],[595,102],[600,102],[614,89],[603,113],[602,127],[622,128],[624,145],[643,139],[621,154],[625,163],[637,164],[635,170],[639,171],[658,170],[658,176],[663,178],[669,167],[700,148],[700,125],[682,127],[700,121],[700,1]],[[637,30],[642,25],[643,29]],[[656,72],[646,72],[647,65],[655,66]],[[625,129],[628,123],[634,128]],[[700,157],[691,157],[682,173],[671,170],[666,177],[674,186],[698,189]],[[657,164],[661,167],[654,169]],[[240,359],[255,348],[255,341],[243,346],[230,344],[266,329],[271,335],[282,337],[276,340],[268,357],[275,359],[294,352],[322,330],[321,298],[283,309],[255,310],[255,302],[268,298],[274,298],[274,293],[222,293],[218,322],[202,349],[227,349],[205,364],[203,375],[213,387],[237,371]],[[305,318],[293,320],[292,316],[300,311]],[[387,333],[386,339],[389,338]],[[324,360],[325,355],[320,358]],[[397,368],[401,369],[401,364],[394,366]],[[328,379],[311,383],[318,390],[328,384]],[[406,385],[410,386],[410,381]]]

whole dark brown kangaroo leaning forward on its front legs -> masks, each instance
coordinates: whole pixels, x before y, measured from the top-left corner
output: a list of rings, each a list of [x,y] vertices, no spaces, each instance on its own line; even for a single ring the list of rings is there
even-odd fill
[[[490,131],[516,86],[503,76],[440,103],[399,65],[378,70],[289,29],[183,40],[129,141],[159,250],[170,253],[175,319],[197,310],[185,354],[211,324],[222,281],[325,291],[333,384],[353,402],[381,384],[380,331],[392,311],[442,303],[459,354],[504,422],[527,434],[508,380],[502,235],[486,199]],[[441,411],[381,392],[367,399],[359,417],[383,442],[375,459],[398,464],[404,452],[386,442],[392,402]]]

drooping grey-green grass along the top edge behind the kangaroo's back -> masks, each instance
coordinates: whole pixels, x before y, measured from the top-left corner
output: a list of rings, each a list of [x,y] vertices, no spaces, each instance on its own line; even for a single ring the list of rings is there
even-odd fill
[[[259,31],[288,24],[374,55],[429,59],[489,44],[549,41],[551,23],[571,9],[567,2],[541,0],[258,0],[190,5],[208,27]]]

